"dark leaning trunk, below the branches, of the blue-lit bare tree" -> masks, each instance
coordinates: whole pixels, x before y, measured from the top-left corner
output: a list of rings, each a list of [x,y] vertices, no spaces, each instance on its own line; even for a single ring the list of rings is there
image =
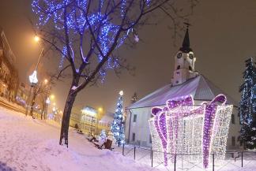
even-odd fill
[[[72,84],[73,87],[73,84]],[[70,114],[73,107],[73,102],[76,99],[77,94],[72,94],[72,87],[70,88],[69,95],[66,99],[65,108],[63,111],[62,117],[62,129],[60,133],[59,144],[62,145],[62,140],[64,139],[64,144],[68,147],[68,133],[69,133],[69,126],[70,126]]]

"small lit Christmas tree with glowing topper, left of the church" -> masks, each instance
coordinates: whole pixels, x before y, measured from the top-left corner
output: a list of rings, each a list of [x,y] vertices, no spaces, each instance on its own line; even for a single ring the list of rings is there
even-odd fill
[[[125,143],[125,135],[124,135],[124,117],[122,110],[122,95],[123,91],[119,92],[119,101],[117,102],[114,121],[111,125],[111,132],[114,134],[115,143],[118,143],[119,146]]]

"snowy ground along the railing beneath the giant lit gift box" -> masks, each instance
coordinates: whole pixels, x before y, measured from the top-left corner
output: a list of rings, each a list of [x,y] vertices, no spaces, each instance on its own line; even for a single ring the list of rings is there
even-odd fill
[[[114,151],[122,152],[122,148],[115,147]],[[127,158],[134,158],[134,146],[126,145],[124,154]],[[145,147],[137,147],[136,148],[136,161],[140,163],[144,163],[145,165],[151,166],[153,164],[152,170],[160,170],[160,171],[172,171],[174,169],[174,163],[169,161],[168,166],[164,166],[163,154],[157,153],[156,151],[153,154],[153,161],[150,158],[150,149],[146,149]],[[171,156],[169,156],[171,157]],[[186,158],[187,156],[177,155],[176,156],[176,171],[212,171],[212,158],[210,159],[209,168],[203,169],[202,162],[191,162],[190,159]],[[216,158],[216,157],[215,157]],[[241,154],[239,154],[239,158],[232,158],[232,154],[226,154],[226,158],[224,161],[215,160],[214,170],[218,171],[256,171],[256,152],[249,151],[243,152],[243,168],[241,161]]]

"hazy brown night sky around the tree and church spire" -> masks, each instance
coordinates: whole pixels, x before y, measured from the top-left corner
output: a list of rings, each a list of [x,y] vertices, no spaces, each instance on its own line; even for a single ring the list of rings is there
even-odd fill
[[[28,72],[36,64],[40,46],[33,43],[30,0],[0,0],[0,25],[17,56],[20,80],[28,84]],[[256,56],[256,1],[215,0],[201,1],[190,17],[190,46],[197,58],[195,69],[239,101],[239,85],[246,58]],[[157,26],[146,26],[139,31],[141,42],[134,50],[122,48],[122,56],[137,69],[135,76],[122,72],[121,77],[108,72],[107,81],[98,87],[87,87],[77,95],[74,106],[104,107],[114,111],[119,90],[124,91],[125,105],[137,92],[141,99],[152,91],[170,83],[174,56],[183,38],[174,46],[166,18]],[[46,69],[58,69],[59,58],[44,58]],[[40,78],[39,78],[40,79]],[[58,83],[53,94],[56,104],[63,109],[69,81]]]

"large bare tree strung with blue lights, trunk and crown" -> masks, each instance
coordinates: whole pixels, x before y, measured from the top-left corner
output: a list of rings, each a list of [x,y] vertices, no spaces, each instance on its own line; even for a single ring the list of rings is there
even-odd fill
[[[186,4],[193,8],[195,2],[189,0]],[[124,43],[136,43],[138,29],[150,23],[152,17],[168,14],[174,24],[183,20],[177,5],[178,0],[32,1],[32,10],[39,18],[37,34],[62,55],[57,77],[66,69],[71,71],[59,144],[65,139],[68,147],[70,113],[77,94],[104,80],[108,69],[116,73],[130,69],[117,49]]]

